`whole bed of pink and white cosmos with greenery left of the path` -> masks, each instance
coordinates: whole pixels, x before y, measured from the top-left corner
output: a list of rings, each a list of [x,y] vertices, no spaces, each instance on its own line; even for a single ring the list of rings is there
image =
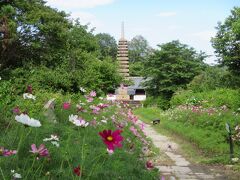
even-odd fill
[[[124,105],[101,104],[105,101],[96,97],[93,91],[90,94],[86,92],[85,96],[62,95],[30,86],[28,91],[31,89],[36,100],[24,99],[22,94],[7,92],[14,91],[15,85],[7,81],[1,83],[1,179],[11,179],[16,176],[15,173],[24,179],[158,178],[156,169],[148,170],[145,167],[147,159],[142,148],[150,148],[151,145],[140,125],[134,121],[130,109],[124,108]],[[4,96],[6,94],[8,96]],[[55,100],[49,104],[51,98]],[[41,126],[31,127],[17,122],[17,117],[23,114],[39,121]],[[78,119],[74,120],[76,124],[73,119],[70,120],[71,115],[77,116]],[[79,121],[83,125],[77,125]],[[138,137],[130,127],[134,128],[134,133],[139,133]],[[122,148],[115,147],[108,153],[99,132],[117,129],[121,130],[124,138]],[[44,140],[52,137],[55,138]],[[40,150],[35,154],[30,152],[33,144],[37,148],[43,144],[45,154]],[[13,170],[14,173],[11,173]]]

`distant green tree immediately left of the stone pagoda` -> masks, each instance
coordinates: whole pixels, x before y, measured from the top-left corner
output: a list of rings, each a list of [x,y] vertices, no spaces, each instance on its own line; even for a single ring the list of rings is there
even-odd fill
[[[100,47],[100,59],[110,56],[113,59],[117,57],[117,42],[113,36],[107,33],[99,33],[96,35]]]

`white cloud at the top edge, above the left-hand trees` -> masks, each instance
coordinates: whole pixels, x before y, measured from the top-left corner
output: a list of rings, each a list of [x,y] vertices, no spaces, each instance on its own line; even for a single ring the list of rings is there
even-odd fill
[[[93,8],[113,3],[114,0],[47,0],[47,5],[65,9]]]

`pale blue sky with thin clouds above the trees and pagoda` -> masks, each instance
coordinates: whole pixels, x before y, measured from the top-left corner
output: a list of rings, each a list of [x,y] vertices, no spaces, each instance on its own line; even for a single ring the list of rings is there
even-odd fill
[[[82,24],[90,24],[94,33],[108,33],[116,40],[121,37],[124,21],[125,38],[137,35],[149,45],[179,40],[203,51],[206,62],[215,64],[211,37],[218,22],[224,22],[240,0],[46,0],[47,5],[71,13]]]

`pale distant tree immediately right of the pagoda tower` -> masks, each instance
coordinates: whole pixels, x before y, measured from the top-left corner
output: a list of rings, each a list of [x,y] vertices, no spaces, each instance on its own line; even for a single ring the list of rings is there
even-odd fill
[[[129,43],[129,61],[144,62],[148,55],[152,52],[152,48],[148,45],[147,40],[141,36],[135,36]]]

